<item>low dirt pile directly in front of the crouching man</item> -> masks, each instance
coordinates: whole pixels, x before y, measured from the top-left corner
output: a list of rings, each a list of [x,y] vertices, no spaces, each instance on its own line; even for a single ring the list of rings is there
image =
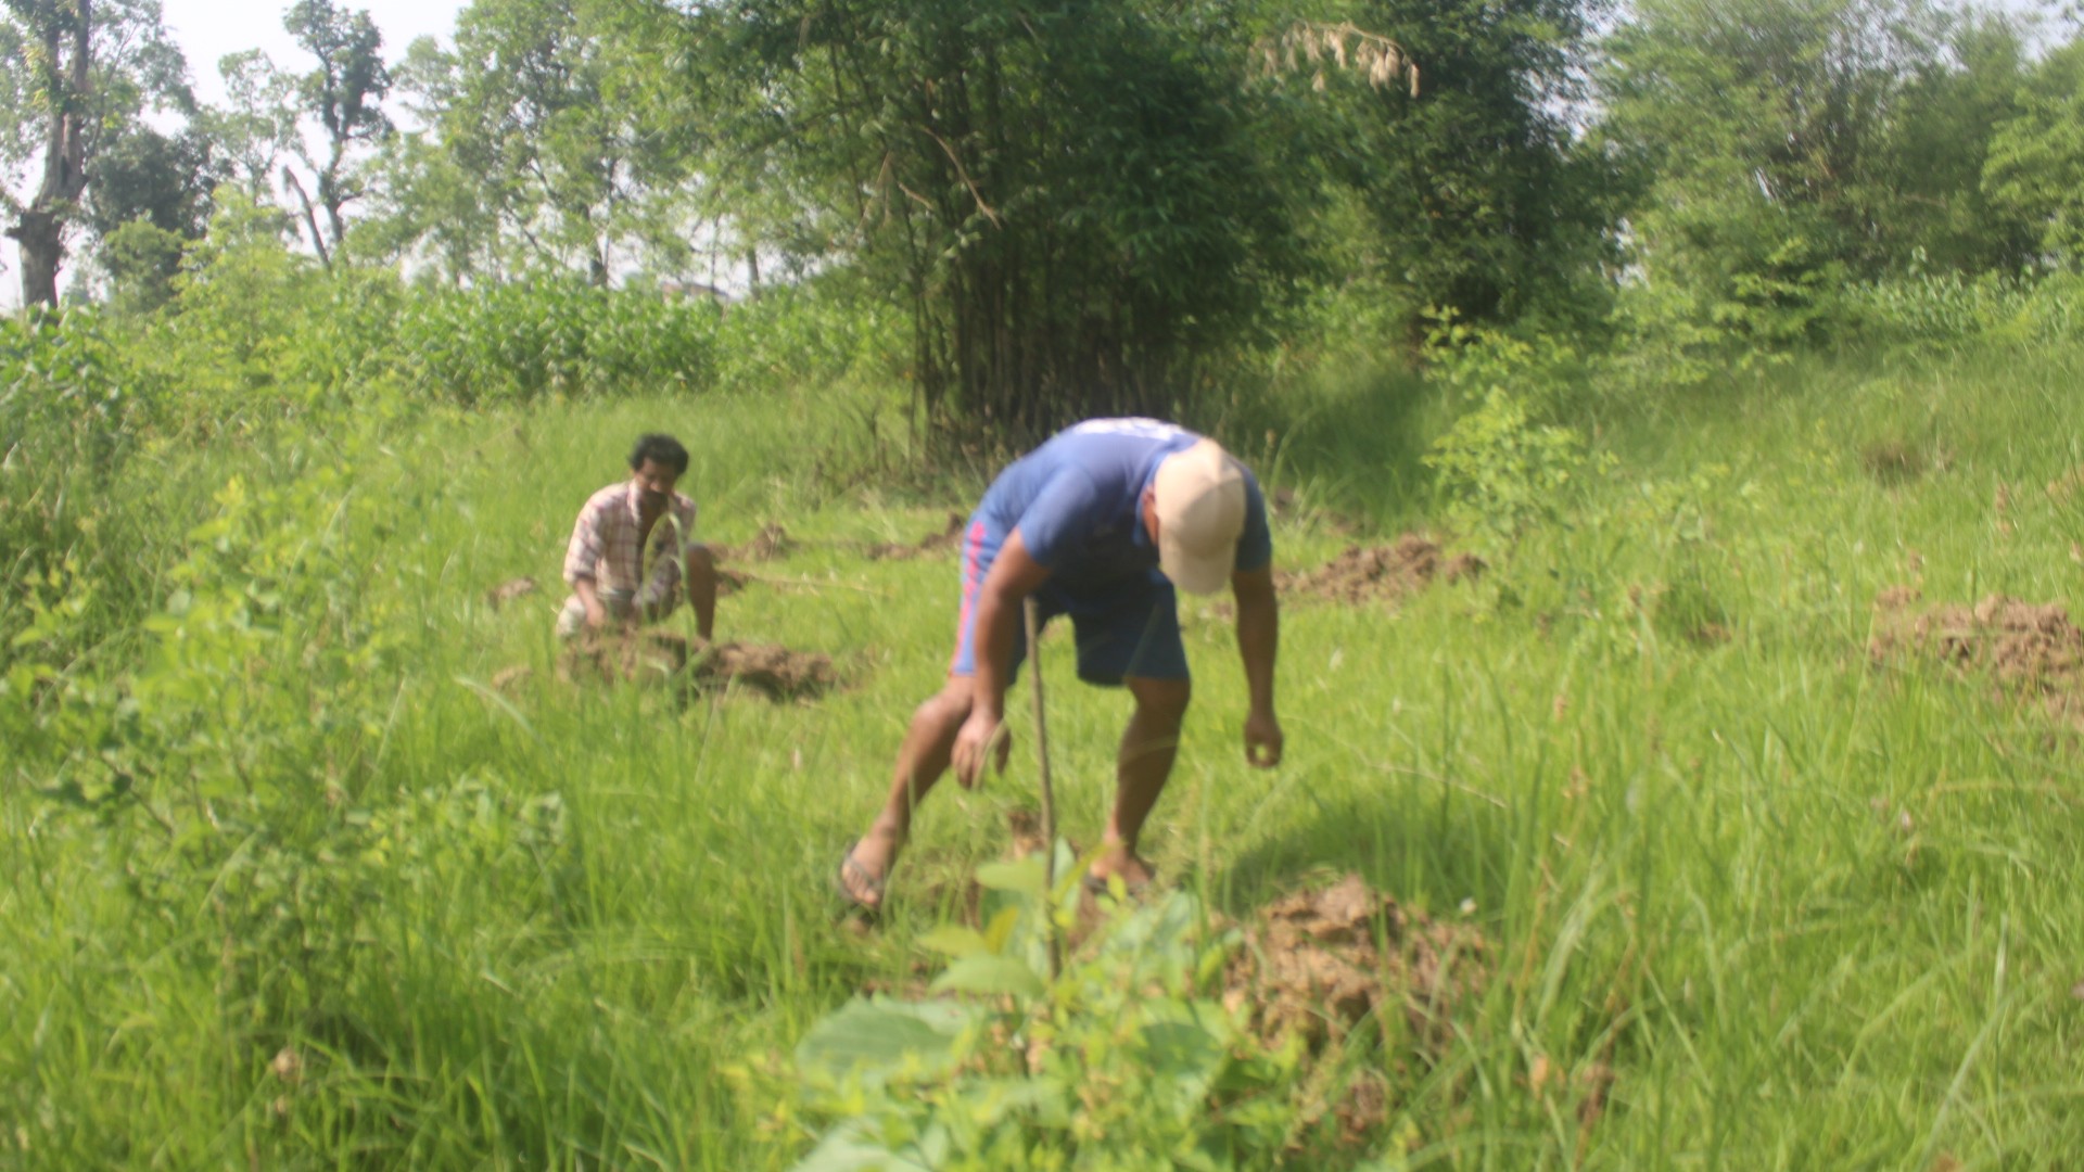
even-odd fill
[[[759,642],[709,642],[669,632],[581,638],[559,669],[567,680],[681,688],[686,694],[752,688],[771,701],[807,701],[838,686],[832,657]]]

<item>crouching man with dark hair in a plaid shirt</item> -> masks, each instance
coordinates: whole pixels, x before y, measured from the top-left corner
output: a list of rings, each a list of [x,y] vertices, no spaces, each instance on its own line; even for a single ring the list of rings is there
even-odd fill
[[[694,540],[694,500],[673,490],[688,471],[688,448],[673,436],[640,436],[629,448],[629,480],[586,498],[565,548],[571,599],[556,615],[559,638],[588,630],[663,619],[686,586],[696,632],[717,621],[717,563]],[[644,571],[646,546],[650,573]]]

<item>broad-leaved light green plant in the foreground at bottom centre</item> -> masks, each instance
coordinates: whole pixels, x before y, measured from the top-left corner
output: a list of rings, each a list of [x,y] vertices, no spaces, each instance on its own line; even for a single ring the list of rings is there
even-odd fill
[[[1059,857],[1067,878],[1050,907],[1069,928],[1082,868],[1063,847]],[[925,936],[950,957],[927,988],[857,997],[798,1045],[796,1101],[775,1118],[823,1122],[798,1172],[1363,1157],[1369,1128],[1342,1130],[1328,1103],[1369,1072],[1336,1049],[1313,1055],[1300,1032],[1269,1039],[1248,997],[1225,997],[1244,936],[1192,895],[1107,913],[1050,982],[1042,859],[986,865],[977,882],[984,928]]]

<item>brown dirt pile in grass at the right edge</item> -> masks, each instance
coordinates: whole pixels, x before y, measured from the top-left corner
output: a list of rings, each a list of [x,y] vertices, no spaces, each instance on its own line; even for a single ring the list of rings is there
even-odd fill
[[[1974,607],[1919,611],[1917,599],[1915,588],[1894,586],[1874,601],[1876,634],[1867,653],[1876,663],[1936,659],[1959,672],[1986,674],[2001,694],[2084,719],[2084,632],[2061,605],[1990,594]]]

